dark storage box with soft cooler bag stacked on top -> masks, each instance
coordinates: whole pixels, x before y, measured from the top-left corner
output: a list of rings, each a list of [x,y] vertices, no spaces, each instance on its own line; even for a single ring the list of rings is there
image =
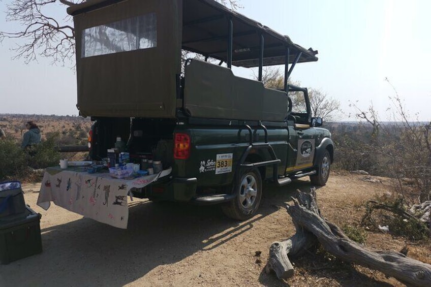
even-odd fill
[[[23,200],[19,182],[0,183],[0,264],[42,252],[41,215]]]

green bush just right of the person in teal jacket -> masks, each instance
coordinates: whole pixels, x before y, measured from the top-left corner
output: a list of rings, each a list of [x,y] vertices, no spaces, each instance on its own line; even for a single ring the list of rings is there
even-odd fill
[[[58,134],[51,134],[45,141],[35,147],[36,154],[29,157],[28,166],[34,169],[56,166],[61,158],[61,154],[56,151],[55,145]]]

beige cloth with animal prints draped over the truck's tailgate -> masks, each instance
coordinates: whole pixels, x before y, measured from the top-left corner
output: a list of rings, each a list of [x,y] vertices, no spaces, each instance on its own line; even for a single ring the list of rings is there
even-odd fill
[[[172,169],[134,179],[114,179],[108,173],[89,174],[48,168],[44,174],[37,204],[45,210],[51,205],[93,218],[114,227],[127,229],[129,208],[127,197],[131,188],[167,176]]]

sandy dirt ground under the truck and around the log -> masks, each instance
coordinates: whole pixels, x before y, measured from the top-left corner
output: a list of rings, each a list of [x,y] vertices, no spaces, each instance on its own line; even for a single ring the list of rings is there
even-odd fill
[[[359,226],[363,203],[387,192],[388,180],[332,174],[317,189],[322,215],[343,227]],[[403,286],[394,278],[340,262],[325,252],[293,260],[295,275],[266,274],[269,246],[289,238],[294,227],[284,206],[301,180],[264,186],[259,214],[245,222],[226,218],[218,206],[199,207],[135,200],[129,227],[117,229],[51,205],[36,205],[40,184],[25,186],[25,200],[42,214],[43,252],[0,265],[0,286]],[[365,246],[399,251],[404,238],[367,232]],[[431,264],[429,242],[410,243],[409,257]],[[256,251],[261,251],[256,256]]]

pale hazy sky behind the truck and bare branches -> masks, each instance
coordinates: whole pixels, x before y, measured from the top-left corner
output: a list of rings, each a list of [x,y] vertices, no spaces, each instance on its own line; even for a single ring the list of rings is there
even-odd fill
[[[5,20],[8,0],[0,0],[0,30],[19,25]],[[382,120],[395,95],[411,119],[431,120],[431,1],[428,0],[239,0],[239,13],[318,50],[319,60],[296,65],[291,79],[321,89],[341,103],[343,120],[354,120],[350,103],[371,104]],[[64,18],[60,6],[52,13]],[[15,42],[0,43],[0,113],[78,115],[76,75],[38,57],[28,65],[12,60]],[[235,70],[241,76],[249,71]],[[417,117],[415,114],[418,114]]]

